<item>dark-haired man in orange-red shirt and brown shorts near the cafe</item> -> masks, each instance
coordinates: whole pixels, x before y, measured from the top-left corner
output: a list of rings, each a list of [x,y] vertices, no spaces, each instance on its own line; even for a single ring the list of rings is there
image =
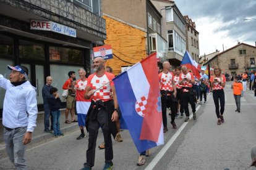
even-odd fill
[[[71,122],[77,122],[75,119],[75,71],[69,71],[67,75],[69,76],[69,79],[63,84],[62,89],[69,91],[67,95],[67,108],[65,110],[65,123],[69,124],[69,111],[71,113]]]

